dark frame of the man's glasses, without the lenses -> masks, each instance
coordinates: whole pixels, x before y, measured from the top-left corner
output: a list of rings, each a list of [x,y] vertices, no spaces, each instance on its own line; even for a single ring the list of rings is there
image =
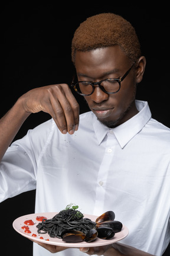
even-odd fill
[[[81,96],[89,96],[91,94],[93,94],[94,92],[94,89],[95,89],[95,85],[99,85],[99,88],[102,89],[103,92],[105,92],[106,94],[116,94],[116,92],[118,92],[120,90],[120,87],[121,87],[121,82],[126,78],[126,76],[128,76],[129,72],[131,71],[131,69],[133,68],[133,66],[135,65],[135,63],[133,63],[133,65],[130,67],[130,69],[128,69],[128,71],[126,71],[125,75],[123,75],[122,77],[120,78],[107,78],[107,79],[104,79],[102,81],[99,81],[99,82],[87,82],[87,81],[78,81],[78,82],[74,82],[74,78],[73,78],[73,81],[71,83],[71,87],[73,87],[74,91],[77,92],[77,94],[81,95]],[[104,81],[117,81],[119,83],[119,89],[117,89],[117,91],[115,92],[107,92],[104,87],[101,85],[102,82]],[[84,83],[88,83],[91,85],[91,87],[93,88],[92,92],[90,94],[83,94],[81,92],[79,92],[76,88],[76,85],[79,84],[80,82],[84,82]]]

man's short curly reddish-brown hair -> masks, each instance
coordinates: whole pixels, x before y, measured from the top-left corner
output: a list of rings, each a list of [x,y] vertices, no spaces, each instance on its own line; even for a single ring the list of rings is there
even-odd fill
[[[135,28],[113,13],[97,14],[80,24],[71,44],[71,57],[75,62],[76,51],[86,52],[99,47],[118,45],[133,61],[141,56],[140,43]]]

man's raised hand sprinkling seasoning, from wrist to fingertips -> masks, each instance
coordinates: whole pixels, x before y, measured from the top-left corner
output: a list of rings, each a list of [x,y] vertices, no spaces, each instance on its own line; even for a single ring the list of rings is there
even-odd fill
[[[61,133],[73,134],[79,127],[79,104],[67,84],[35,88],[19,100],[27,113],[50,114]]]

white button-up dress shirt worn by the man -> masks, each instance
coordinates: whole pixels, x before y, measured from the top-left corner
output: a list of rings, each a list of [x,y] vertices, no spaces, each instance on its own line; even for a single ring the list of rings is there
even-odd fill
[[[1,201],[37,188],[36,213],[70,203],[97,216],[113,210],[129,229],[122,243],[162,255],[170,240],[170,130],[151,118],[148,103],[136,107],[139,113],[114,129],[88,112],[74,135],[62,135],[53,119],[29,130],[2,159]],[[51,253],[35,245],[40,255]]]

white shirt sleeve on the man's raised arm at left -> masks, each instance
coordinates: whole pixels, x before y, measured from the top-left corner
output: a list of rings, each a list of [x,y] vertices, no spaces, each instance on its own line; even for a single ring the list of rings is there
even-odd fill
[[[37,161],[48,139],[50,123],[28,130],[6,151],[0,164],[0,202],[36,188]]]

